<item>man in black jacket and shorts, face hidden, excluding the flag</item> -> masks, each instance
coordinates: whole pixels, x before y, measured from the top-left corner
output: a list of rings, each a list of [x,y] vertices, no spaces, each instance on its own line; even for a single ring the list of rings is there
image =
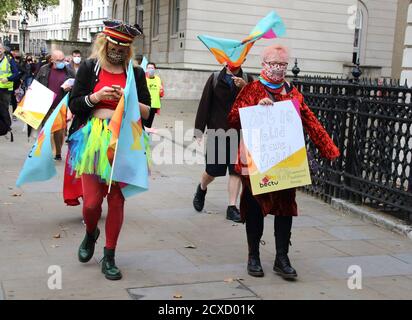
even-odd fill
[[[193,206],[202,211],[205,203],[207,186],[216,178],[226,175],[229,170],[228,192],[229,205],[226,219],[240,221],[239,209],[236,207],[240,191],[240,177],[234,171],[238,141],[231,141],[227,136],[229,129],[227,116],[240,90],[253,81],[252,76],[243,72],[241,67],[227,64],[220,72],[214,72],[206,82],[199,103],[195,120],[195,138],[200,142],[205,128],[208,129],[206,170],[193,199]],[[217,134],[212,131],[219,130]],[[224,158],[224,159],[223,159]],[[222,160],[223,161],[222,163]]]

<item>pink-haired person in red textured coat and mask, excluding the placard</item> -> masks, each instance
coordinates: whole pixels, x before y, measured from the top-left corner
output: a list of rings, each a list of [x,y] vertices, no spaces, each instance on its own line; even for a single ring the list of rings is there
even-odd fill
[[[229,125],[241,129],[239,109],[254,105],[267,105],[273,102],[297,99],[303,127],[322,157],[333,160],[339,156],[339,149],[317,120],[313,112],[305,104],[302,94],[285,80],[289,61],[288,49],[282,45],[266,47],[262,52],[262,72],[259,80],[243,88],[237,97],[229,114]],[[297,216],[295,188],[270,193],[253,195],[250,179],[247,174],[247,164],[243,142],[238,154],[236,172],[241,175],[242,194],[240,213],[242,221],[246,222],[246,234],[249,247],[247,271],[251,276],[264,275],[259,256],[259,244],[263,234],[264,217],[275,215],[274,235],[276,240],[276,258],[273,270],[284,278],[297,277],[296,270],[291,266],[288,251],[291,239],[292,217]]]

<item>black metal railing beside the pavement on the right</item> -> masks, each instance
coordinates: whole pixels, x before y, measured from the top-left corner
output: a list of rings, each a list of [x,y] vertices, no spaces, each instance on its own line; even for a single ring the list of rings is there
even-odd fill
[[[337,161],[318,156],[307,192],[342,198],[412,221],[412,89],[399,81],[298,77],[294,85],[341,151]]]

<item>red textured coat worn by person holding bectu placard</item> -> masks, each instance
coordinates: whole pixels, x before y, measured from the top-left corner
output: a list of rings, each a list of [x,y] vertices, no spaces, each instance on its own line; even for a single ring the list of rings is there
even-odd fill
[[[237,130],[241,129],[239,109],[244,107],[250,107],[257,105],[263,98],[269,98],[265,86],[260,81],[254,81],[246,85],[236,98],[233,108],[229,113],[228,122],[231,128]],[[319,149],[322,157],[333,160],[339,157],[340,152],[336,145],[333,143],[331,137],[323,128],[313,112],[305,104],[303,95],[296,89],[292,88],[286,94],[274,94],[276,101],[297,99],[300,103],[300,114],[302,118],[303,127],[308,133],[309,138],[312,140],[316,148]],[[241,154],[244,150],[243,145],[239,146],[238,161],[235,166],[235,171],[241,175],[242,168],[246,168],[247,165],[242,163]],[[248,212],[248,203],[245,201],[245,188],[248,188],[251,192],[250,179],[248,175],[241,175],[242,180],[242,194],[240,196],[240,214],[242,220],[245,220],[246,213]],[[275,192],[264,193],[254,196],[259,203],[262,213],[279,215],[279,216],[297,216],[298,210],[296,205],[296,189],[286,189]]]

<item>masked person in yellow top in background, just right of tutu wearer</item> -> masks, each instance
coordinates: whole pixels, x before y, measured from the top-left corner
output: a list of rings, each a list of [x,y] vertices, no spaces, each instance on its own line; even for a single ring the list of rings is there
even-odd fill
[[[155,114],[160,113],[161,102],[160,98],[164,96],[164,89],[162,80],[159,76],[155,75],[156,72],[156,64],[153,62],[149,62],[146,67],[146,82],[147,87],[150,92],[150,97],[152,98],[152,105],[150,109],[149,118],[144,121],[144,125],[146,128],[151,128],[154,120]],[[151,131],[151,130],[147,130]]]

